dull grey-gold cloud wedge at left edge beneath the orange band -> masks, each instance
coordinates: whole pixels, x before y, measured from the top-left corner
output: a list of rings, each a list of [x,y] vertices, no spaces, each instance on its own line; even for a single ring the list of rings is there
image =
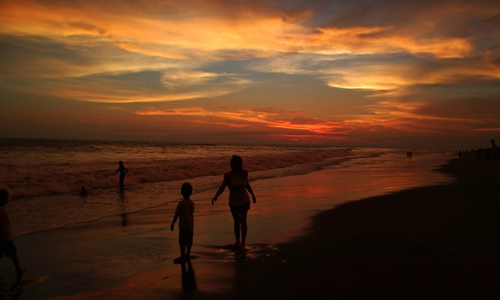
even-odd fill
[[[2,77],[82,76],[134,66],[151,68],[168,62],[167,59],[132,54],[113,43],[85,36],[71,36],[60,41],[40,36],[1,35],[0,51]],[[124,65],[124,61],[128,64]]]

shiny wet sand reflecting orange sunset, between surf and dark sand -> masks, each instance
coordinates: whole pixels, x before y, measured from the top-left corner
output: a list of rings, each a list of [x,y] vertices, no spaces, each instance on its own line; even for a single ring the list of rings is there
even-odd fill
[[[348,201],[452,181],[432,171],[448,158],[416,153],[413,159],[406,159],[397,151],[377,157],[360,155],[308,174],[254,181],[258,202],[249,212],[248,253],[243,258],[226,247],[234,241],[227,191],[216,205],[210,203],[214,190],[193,194],[193,254],[199,257],[193,260],[196,293],[227,291],[237,284],[244,268],[233,264],[235,260],[279,256],[276,245],[307,234],[311,217],[320,211]],[[172,264],[179,251],[178,233],[168,229],[175,202],[126,213],[129,205],[144,199],[153,188],[163,190],[163,183],[159,184],[123,194],[110,192],[108,206],[123,211],[116,216],[16,237],[22,263],[30,270],[29,279],[49,278],[23,295],[29,299],[182,298],[180,267]],[[1,261],[0,269],[10,270],[9,263]]]

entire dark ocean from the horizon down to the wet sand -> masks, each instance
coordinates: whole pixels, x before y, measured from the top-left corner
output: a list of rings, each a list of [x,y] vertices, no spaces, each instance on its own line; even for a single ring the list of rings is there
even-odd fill
[[[252,182],[359,164],[375,166],[402,159],[405,151],[0,139],[0,185],[11,194],[7,208],[14,235],[22,235],[160,207],[181,197],[185,181],[195,194],[215,190],[233,154],[243,158]],[[129,170],[126,193],[118,188],[119,175],[113,175],[120,160]],[[82,186],[88,191],[85,197],[79,194]]]

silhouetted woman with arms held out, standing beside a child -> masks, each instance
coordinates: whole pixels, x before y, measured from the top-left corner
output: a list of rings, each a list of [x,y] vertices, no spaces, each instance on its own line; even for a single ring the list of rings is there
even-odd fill
[[[243,170],[243,160],[237,155],[233,155],[231,158],[231,171],[224,174],[224,181],[212,199],[212,204],[217,201],[217,197],[224,192],[226,186],[229,188],[229,207],[234,220],[234,236],[236,238],[234,246],[245,249],[248,231],[247,212],[250,209],[250,198],[247,190],[252,195],[253,203],[257,202],[257,200],[250,183],[248,183],[248,172]]]

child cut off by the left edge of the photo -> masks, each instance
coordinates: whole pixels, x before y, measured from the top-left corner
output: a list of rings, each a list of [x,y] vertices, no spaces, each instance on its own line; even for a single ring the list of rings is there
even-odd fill
[[[0,258],[4,255],[12,258],[14,266],[16,267],[17,277],[21,276],[26,272],[21,268],[19,264],[19,258],[17,257],[17,249],[12,241],[12,233],[10,231],[10,221],[9,215],[5,206],[9,202],[9,193],[6,190],[0,190]]]

